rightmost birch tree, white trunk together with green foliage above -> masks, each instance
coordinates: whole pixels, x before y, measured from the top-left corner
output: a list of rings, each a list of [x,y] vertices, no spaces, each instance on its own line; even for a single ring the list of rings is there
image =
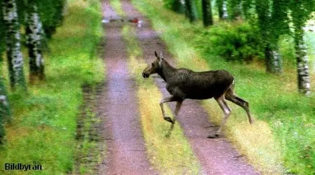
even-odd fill
[[[292,23],[294,25],[295,56],[297,62],[297,80],[300,93],[311,94],[311,80],[308,66],[307,46],[303,27],[315,10],[314,0],[290,0]]]

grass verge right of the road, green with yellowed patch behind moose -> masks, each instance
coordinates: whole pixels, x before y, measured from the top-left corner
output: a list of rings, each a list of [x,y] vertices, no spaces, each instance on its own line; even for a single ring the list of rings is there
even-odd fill
[[[281,174],[282,166],[286,173],[315,173],[315,96],[307,98],[297,93],[295,66],[284,67],[284,74],[276,76],[265,74],[263,63],[259,61],[226,62],[196,47],[194,41],[198,33],[194,29],[202,27],[200,22],[190,25],[182,15],[158,5],[161,1],[132,2],[161,32],[180,67],[196,71],[225,69],[235,76],[236,93],[250,102],[255,124],[249,125],[245,111],[229,103],[233,111],[224,132],[256,169],[265,175]],[[314,82],[313,74],[313,92]],[[218,104],[206,100],[203,105],[211,115],[210,120],[221,124],[222,112]]]

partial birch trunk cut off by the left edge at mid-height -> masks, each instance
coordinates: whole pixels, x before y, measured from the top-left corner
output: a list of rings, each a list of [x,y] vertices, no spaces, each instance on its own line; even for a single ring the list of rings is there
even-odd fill
[[[10,106],[8,98],[6,96],[6,88],[4,86],[2,78],[0,78],[0,145],[3,142],[4,128],[3,123],[6,117],[10,116]]]

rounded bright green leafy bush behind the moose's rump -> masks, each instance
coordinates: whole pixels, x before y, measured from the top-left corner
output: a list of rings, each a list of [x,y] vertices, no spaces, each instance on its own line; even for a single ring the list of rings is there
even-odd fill
[[[247,23],[220,23],[200,33],[196,37],[197,48],[220,55],[227,61],[248,62],[263,57],[259,31]]]

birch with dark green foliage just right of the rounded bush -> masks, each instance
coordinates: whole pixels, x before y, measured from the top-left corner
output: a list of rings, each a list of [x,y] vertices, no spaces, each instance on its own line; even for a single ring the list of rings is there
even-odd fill
[[[257,23],[261,36],[264,38],[266,72],[280,74],[282,72],[282,58],[278,53],[278,38],[274,35],[277,31],[272,25],[274,23],[271,21],[272,8],[270,3],[269,0],[256,0]]]

